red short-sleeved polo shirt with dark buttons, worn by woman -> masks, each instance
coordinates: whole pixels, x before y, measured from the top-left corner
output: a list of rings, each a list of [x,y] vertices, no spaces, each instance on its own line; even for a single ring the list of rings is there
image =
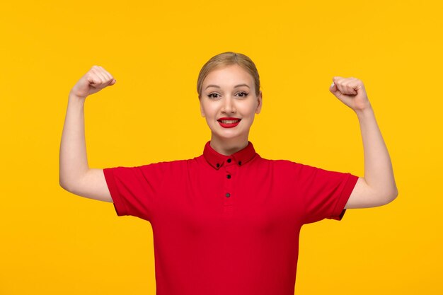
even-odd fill
[[[293,295],[303,224],[340,220],[358,177],[246,148],[103,169],[118,216],[151,223],[157,295]]]

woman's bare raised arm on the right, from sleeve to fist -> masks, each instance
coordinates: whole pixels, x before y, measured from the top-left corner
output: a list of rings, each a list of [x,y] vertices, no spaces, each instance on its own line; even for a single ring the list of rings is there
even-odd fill
[[[357,114],[362,132],[364,178],[359,178],[345,209],[377,207],[398,195],[391,158],[375,120],[374,110],[359,79],[333,77],[329,91]]]

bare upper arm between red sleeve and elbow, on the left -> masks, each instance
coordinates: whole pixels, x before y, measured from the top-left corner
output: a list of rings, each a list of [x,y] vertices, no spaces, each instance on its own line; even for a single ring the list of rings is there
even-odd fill
[[[103,169],[89,169],[83,178],[79,179],[72,187],[69,187],[69,192],[89,199],[113,202]]]

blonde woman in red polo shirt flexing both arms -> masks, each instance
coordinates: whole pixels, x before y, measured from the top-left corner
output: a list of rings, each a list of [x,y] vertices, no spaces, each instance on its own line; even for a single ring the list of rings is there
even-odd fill
[[[60,146],[60,185],[113,202],[118,216],[151,223],[158,295],[292,295],[299,231],[345,209],[388,204],[398,195],[389,153],[362,81],[333,77],[329,90],[357,115],[364,177],[262,158],[248,141],[263,96],[255,64],[217,54],[197,93],[212,136],[192,159],[137,167],[88,167],[87,96],[115,84],[93,66],[71,89]]]

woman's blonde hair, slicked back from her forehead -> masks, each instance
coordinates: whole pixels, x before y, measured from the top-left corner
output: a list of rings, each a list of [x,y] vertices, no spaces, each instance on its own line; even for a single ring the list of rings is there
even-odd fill
[[[197,79],[198,99],[201,98],[203,81],[205,80],[206,76],[212,70],[217,69],[220,66],[229,66],[231,64],[238,64],[243,69],[248,71],[249,74],[251,74],[255,84],[255,95],[258,96],[260,94],[260,76],[258,76],[258,71],[254,62],[245,54],[229,51],[211,57],[211,59],[209,59],[206,64],[202,66],[202,69],[200,69]]]

